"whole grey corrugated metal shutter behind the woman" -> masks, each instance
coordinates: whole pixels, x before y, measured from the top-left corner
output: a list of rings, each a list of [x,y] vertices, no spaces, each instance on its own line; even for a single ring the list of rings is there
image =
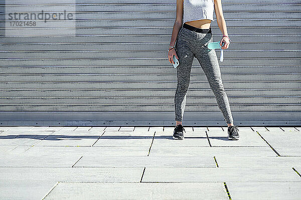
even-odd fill
[[[167,49],[176,0],[0,2],[1,125],[174,125]],[[40,36],[17,27],[8,37],[5,8],[74,10],[76,36],[52,21]],[[300,9],[292,0],[223,1],[232,43],[220,68],[235,124],[301,124]],[[219,41],[217,21],[212,31]],[[226,125],[196,59],[184,123]]]

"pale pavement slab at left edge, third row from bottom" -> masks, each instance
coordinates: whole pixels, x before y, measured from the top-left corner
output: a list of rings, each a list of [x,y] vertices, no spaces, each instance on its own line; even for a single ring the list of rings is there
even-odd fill
[[[80,157],[59,153],[51,156],[7,153],[1,155],[0,167],[71,167]]]

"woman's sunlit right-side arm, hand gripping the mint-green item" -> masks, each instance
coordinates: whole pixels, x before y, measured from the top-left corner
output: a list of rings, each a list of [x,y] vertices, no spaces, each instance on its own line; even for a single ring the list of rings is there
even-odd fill
[[[222,0],[214,0],[214,10],[215,10],[218,27],[220,28],[223,35],[228,36],[226,22],[225,22],[223,10],[222,10]],[[220,42],[220,45],[222,45],[223,41],[225,42],[225,46],[222,47],[222,49],[228,49],[229,44],[230,44],[229,38],[223,37]]]

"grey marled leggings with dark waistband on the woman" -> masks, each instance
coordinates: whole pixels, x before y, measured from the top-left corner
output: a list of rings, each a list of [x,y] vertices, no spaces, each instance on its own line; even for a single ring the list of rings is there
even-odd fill
[[[207,47],[210,42],[213,42],[211,27],[203,29],[201,33],[186,29],[183,26],[179,31],[175,48],[179,58],[177,67],[178,85],[175,94],[176,121],[182,121],[183,119],[186,95],[190,83],[191,66],[194,57],[196,57],[207,77],[225,121],[233,123],[216,52],[214,49],[208,49]]]

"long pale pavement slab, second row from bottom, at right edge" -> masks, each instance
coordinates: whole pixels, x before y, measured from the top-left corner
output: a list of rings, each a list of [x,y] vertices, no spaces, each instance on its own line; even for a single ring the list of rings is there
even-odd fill
[[[176,175],[175,175],[176,174]],[[272,182],[298,181],[290,167],[146,167],[142,182]]]

